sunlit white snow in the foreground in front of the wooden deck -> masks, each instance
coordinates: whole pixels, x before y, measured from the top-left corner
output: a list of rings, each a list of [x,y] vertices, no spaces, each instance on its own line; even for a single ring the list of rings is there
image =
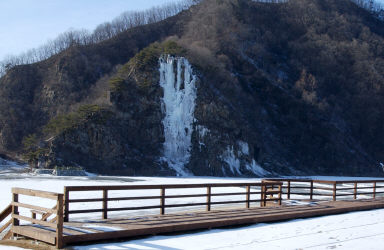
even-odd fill
[[[384,246],[384,209],[273,224],[155,236],[75,249],[377,249]]]

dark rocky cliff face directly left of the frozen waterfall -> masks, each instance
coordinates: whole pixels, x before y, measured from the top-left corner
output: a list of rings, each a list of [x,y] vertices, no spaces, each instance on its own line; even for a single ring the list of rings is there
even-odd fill
[[[103,174],[171,174],[158,163],[164,140],[159,87],[149,96],[130,87],[111,95],[115,109],[105,121],[97,122],[97,114],[58,135],[51,143],[50,165],[80,165]]]

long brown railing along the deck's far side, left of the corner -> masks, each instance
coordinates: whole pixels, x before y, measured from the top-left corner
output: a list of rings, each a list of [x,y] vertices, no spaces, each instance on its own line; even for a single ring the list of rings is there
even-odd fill
[[[144,209],[160,209],[160,214],[165,214],[166,208],[176,207],[191,207],[191,206],[205,206],[206,211],[211,211],[213,205],[244,203],[246,208],[250,208],[251,202],[260,202],[261,206],[265,206],[266,202],[274,201],[281,204],[281,186],[282,182],[268,181],[265,183],[214,183],[214,184],[174,184],[174,185],[125,185],[125,186],[67,186],[64,188],[65,209],[64,221],[69,220],[70,214],[81,213],[102,213],[102,218],[108,218],[108,212],[128,211],[128,210],[144,210]],[[214,193],[214,188],[223,187],[243,187],[242,192],[231,193]],[[274,189],[274,188],[277,189]],[[166,195],[167,190],[171,189],[197,189],[203,188],[204,193],[197,194],[183,194],[183,195]],[[253,190],[252,190],[253,189]],[[122,190],[158,190],[160,195],[156,196],[131,196],[131,197],[110,197],[110,191]],[[99,191],[102,193],[101,198],[72,198],[74,192],[89,192]],[[280,192],[280,194],[279,194]],[[273,197],[277,194],[277,197]],[[252,197],[252,195],[260,195],[260,198]],[[218,196],[239,196],[241,200],[226,200],[226,201],[212,201],[213,197]],[[199,198],[205,197],[205,202],[183,203],[183,204],[167,204],[166,202],[171,199],[181,198]],[[109,207],[111,201],[132,201],[132,200],[158,200],[158,205],[151,206],[134,206],[134,207]],[[73,203],[95,203],[100,202],[101,208],[96,209],[81,209],[74,210],[70,208]]]

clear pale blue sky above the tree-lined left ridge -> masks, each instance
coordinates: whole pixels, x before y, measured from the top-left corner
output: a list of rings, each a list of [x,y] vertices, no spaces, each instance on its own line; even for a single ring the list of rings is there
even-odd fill
[[[0,61],[39,47],[70,28],[92,31],[124,11],[170,0],[0,0]]]

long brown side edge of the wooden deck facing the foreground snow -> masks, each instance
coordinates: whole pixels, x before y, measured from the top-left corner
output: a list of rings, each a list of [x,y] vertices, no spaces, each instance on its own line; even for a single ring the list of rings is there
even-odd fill
[[[364,211],[372,209],[384,208],[384,203],[374,203],[366,204],[359,206],[335,208],[327,207],[319,210],[310,210],[310,211],[301,211],[300,213],[292,211],[292,213],[281,214],[276,216],[266,215],[262,218],[234,218],[232,220],[220,220],[218,219],[214,223],[211,222],[197,222],[183,225],[169,225],[169,226],[159,226],[153,227],[151,229],[135,229],[135,230],[121,230],[114,232],[102,232],[102,233],[93,233],[93,234],[83,234],[83,235],[67,235],[64,236],[64,241],[66,244],[73,244],[77,242],[90,242],[98,240],[108,240],[108,239],[118,239],[118,238],[130,238],[137,236],[147,236],[153,234],[161,233],[173,233],[173,232],[186,232],[200,229],[210,229],[210,228],[220,228],[226,226],[239,226],[239,225],[249,225],[255,223],[265,223],[265,222],[277,222],[291,219],[302,219],[302,218],[311,218],[316,216],[326,216],[326,215],[335,215],[342,214],[354,211]]]

